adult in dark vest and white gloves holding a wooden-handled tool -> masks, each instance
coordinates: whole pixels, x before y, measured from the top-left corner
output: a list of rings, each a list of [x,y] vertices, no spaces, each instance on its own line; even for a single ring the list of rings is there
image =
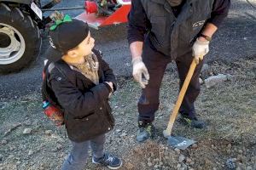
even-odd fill
[[[138,101],[137,141],[154,134],[154,113],[166,65],[176,62],[180,88],[195,58],[197,66],[179,112],[190,127],[204,128],[206,123],[195,114],[195,99],[200,94],[199,76],[202,56],[227,16],[230,0],[132,0],[128,15],[133,77],[143,88]]]

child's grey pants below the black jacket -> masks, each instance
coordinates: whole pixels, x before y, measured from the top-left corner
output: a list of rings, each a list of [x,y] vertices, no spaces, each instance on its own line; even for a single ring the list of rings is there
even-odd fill
[[[88,157],[89,146],[96,158],[102,157],[103,145],[105,143],[105,134],[97,136],[95,139],[90,139],[81,143],[73,142],[73,148],[67,159],[62,165],[62,170],[80,170],[84,169]]]

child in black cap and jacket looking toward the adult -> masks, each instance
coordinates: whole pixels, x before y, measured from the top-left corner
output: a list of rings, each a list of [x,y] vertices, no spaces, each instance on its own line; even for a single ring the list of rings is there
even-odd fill
[[[94,49],[95,40],[83,21],[65,15],[50,27],[49,40],[47,58],[52,63],[47,78],[64,110],[67,135],[73,144],[62,169],[84,169],[89,147],[93,163],[118,169],[122,161],[103,152],[105,133],[113,129],[108,104],[116,89],[113,71]]]

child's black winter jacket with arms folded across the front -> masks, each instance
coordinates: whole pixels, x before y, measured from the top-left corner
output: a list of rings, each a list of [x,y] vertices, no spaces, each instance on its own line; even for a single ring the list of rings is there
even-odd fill
[[[49,74],[49,86],[64,110],[68,138],[75,142],[92,139],[113,129],[114,120],[108,104],[111,88],[106,82],[113,82],[115,90],[116,79],[101,52],[94,50],[94,53],[99,61],[98,85],[79,71],[72,70],[63,60],[55,62],[55,67],[61,67],[65,76],[55,67]]]

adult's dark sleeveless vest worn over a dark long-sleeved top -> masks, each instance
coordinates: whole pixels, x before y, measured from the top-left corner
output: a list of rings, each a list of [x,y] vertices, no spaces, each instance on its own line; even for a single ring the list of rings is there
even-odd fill
[[[214,0],[185,0],[175,17],[167,0],[141,0],[150,20],[150,42],[162,54],[176,59],[191,51],[197,35],[211,17]]]

